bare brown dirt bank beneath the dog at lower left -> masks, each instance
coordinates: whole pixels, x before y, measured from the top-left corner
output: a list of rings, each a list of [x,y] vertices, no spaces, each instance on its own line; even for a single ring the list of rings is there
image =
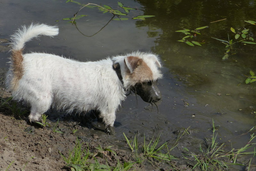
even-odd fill
[[[4,72],[6,70],[1,69],[2,78]],[[3,104],[4,100],[11,96],[11,93],[4,88],[3,79],[0,82],[0,97],[1,104]],[[7,105],[0,105],[0,170],[70,170],[69,167],[65,167],[66,163],[60,153],[67,157],[69,151],[75,147],[77,137],[83,143],[82,148],[89,147],[90,152],[94,153],[100,164],[116,166],[118,162],[122,164],[135,161],[134,155],[128,149],[125,141],[111,142],[111,136],[104,134],[102,131],[94,131],[92,126],[86,125],[86,123],[82,123],[85,126],[81,126],[81,117],[83,116],[62,115],[58,117],[54,115],[50,120],[47,118],[47,121],[51,122],[51,127],[60,118],[57,130],[63,132],[62,134],[53,132],[49,128],[29,123],[29,111],[22,113],[29,109],[16,102],[9,101],[7,103],[9,106],[13,105],[12,109],[6,107]],[[54,113],[54,111],[49,112]],[[91,119],[91,122],[93,122],[93,119]],[[74,129],[78,130],[77,133],[73,133]],[[83,134],[79,134],[81,130]],[[99,134],[95,134],[95,132]],[[122,144],[122,148],[113,144]],[[116,155],[110,151],[97,150],[96,147],[98,145],[103,148],[110,145],[113,146],[111,150],[115,151]],[[94,163],[92,157],[89,161]],[[134,164],[131,170],[164,171],[169,170],[168,168],[169,166],[165,163],[157,163],[153,167],[145,160],[141,164]]]

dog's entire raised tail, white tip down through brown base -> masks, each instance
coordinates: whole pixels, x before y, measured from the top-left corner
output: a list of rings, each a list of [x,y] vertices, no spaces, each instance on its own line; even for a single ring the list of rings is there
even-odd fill
[[[11,36],[11,71],[6,78],[7,85],[11,90],[17,88],[18,81],[21,79],[23,74],[23,56],[22,50],[25,43],[30,41],[34,37],[39,37],[40,35],[53,37],[58,35],[59,28],[56,26],[48,26],[45,24],[31,24],[30,26],[22,26]]]

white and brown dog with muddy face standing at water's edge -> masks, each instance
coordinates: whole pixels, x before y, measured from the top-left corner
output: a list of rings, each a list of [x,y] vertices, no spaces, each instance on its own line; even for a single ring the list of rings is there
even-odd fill
[[[40,121],[51,106],[70,113],[96,110],[105,132],[113,134],[115,113],[127,91],[149,103],[161,99],[157,88],[157,80],[162,78],[161,63],[152,53],[133,52],[88,62],[48,53],[22,53],[32,38],[58,33],[56,26],[32,23],[11,36],[6,85],[14,100],[31,106],[30,122]]]

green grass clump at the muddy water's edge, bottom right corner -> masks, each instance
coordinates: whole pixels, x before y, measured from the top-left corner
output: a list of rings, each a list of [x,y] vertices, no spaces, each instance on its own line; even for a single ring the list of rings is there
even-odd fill
[[[214,122],[212,120],[212,138],[211,143],[208,145],[206,149],[203,149],[201,144],[199,146],[199,154],[195,154],[192,151],[189,151],[187,148],[184,150],[190,152],[190,154],[185,154],[184,158],[190,160],[189,164],[194,168],[199,168],[202,171],[207,170],[227,170],[231,165],[242,165],[237,163],[237,157],[244,155],[252,155],[252,158],[248,162],[248,167],[251,167],[251,161],[256,156],[255,145],[256,143],[251,143],[251,141],[256,137],[254,133],[251,135],[249,142],[240,149],[233,149],[231,151],[225,151],[224,147],[225,143],[219,144],[217,139],[217,134],[215,134],[216,129],[214,126]],[[254,126],[250,131],[255,129]],[[250,132],[248,131],[248,132]],[[208,141],[206,139],[206,141]],[[253,151],[247,151],[249,148],[254,148]],[[186,156],[193,156],[193,158],[187,158]],[[243,165],[242,165],[243,166]]]

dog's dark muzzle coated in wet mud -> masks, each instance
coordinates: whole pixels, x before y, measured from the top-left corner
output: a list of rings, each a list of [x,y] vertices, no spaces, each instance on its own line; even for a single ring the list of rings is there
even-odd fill
[[[157,81],[148,81],[145,83],[137,83],[133,92],[138,94],[142,100],[148,103],[154,103],[161,100],[162,95],[157,88]]]

